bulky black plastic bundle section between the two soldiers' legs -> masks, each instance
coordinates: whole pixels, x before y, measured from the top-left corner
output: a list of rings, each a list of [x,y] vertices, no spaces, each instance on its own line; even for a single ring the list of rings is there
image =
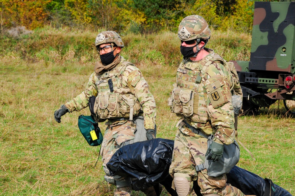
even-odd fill
[[[161,138],[135,142],[118,149],[106,166],[111,176],[137,178],[132,182],[134,190],[152,187],[171,177],[173,145],[173,140]]]

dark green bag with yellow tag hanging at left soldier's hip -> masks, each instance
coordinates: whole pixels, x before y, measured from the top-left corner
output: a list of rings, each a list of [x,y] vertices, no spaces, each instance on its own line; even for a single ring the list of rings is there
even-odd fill
[[[92,116],[80,115],[78,117],[78,127],[90,146],[101,145],[103,136],[98,127],[98,123]]]

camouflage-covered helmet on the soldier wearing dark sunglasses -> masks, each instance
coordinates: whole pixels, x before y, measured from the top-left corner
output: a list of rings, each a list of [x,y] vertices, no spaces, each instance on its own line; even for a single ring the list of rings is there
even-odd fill
[[[178,38],[183,41],[210,39],[211,31],[206,20],[198,15],[187,16],[179,24]]]

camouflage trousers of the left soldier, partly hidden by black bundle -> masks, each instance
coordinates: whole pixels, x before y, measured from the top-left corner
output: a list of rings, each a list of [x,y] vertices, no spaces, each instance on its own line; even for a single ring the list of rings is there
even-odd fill
[[[104,133],[104,140],[101,144],[102,165],[106,175],[109,175],[109,170],[106,167],[107,162],[111,159],[112,155],[123,146],[124,142],[134,139],[134,131],[136,125],[132,121],[127,121],[122,125],[108,126]],[[117,187],[114,192],[115,196],[127,195],[130,196],[131,187]]]

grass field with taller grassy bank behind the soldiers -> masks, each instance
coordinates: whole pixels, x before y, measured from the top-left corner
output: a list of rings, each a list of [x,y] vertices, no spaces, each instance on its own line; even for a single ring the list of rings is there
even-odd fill
[[[61,123],[53,118],[61,104],[83,91],[93,72],[98,55],[94,46],[83,44],[93,44],[97,34],[49,29],[18,39],[1,37],[0,195],[113,195],[101,161],[94,167],[99,146],[89,146],[78,130],[78,115],[90,115],[88,108],[66,114]],[[249,35],[215,35],[208,47],[227,60],[249,60]],[[178,119],[167,98],[181,58],[176,34],[125,35],[123,41],[122,55],[141,69],[155,97],[157,137],[174,139]],[[295,118],[276,102],[260,115],[239,116],[238,123],[240,141],[256,160],[241,148],[237,165],[295,195]]]

